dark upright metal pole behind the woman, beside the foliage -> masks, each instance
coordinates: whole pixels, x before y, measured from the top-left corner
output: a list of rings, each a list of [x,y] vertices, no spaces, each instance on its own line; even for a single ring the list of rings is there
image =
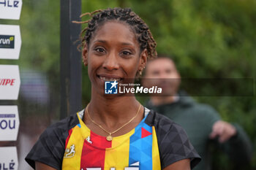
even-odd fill
[[[81,54],[77,50],[81,0],[61,0],[61,114],[60,118],[75,114],[81,107]]]

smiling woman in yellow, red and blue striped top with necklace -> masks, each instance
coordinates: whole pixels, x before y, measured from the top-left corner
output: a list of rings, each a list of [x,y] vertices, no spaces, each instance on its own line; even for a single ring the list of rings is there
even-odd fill
[[[86,15],[92,18],[81,22],[89,23],[81,47],[91,101],[86,109],[47,128],[26,161],[36,169],[194,167],[200,156],[181,126],[142,107],[135,96],[104,93],[106,81],[125,84],[138,77],[148,58],[156,57],[156,42],[146,23],[131,9]]]

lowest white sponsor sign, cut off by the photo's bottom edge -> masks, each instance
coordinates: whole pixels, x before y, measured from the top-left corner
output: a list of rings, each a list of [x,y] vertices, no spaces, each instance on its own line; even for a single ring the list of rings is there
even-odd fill
[[[16,147],[0,147],[0,169],[18,170],[18,156]]]

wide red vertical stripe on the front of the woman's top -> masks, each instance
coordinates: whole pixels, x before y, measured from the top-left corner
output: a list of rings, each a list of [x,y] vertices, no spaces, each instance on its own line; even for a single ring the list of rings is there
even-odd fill
[[[83,142],[80,169],[102,168],[105,163],[105,149],[111,147],[112,142],[108,142],[105,137],[94,134],[91,131],[91,144],[86,140]]]

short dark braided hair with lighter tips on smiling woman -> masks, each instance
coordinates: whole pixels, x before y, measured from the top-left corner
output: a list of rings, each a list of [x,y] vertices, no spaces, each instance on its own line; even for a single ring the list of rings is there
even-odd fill
[[[80,15],[80,18],[83,16],[91,16],[90,20],[86,21],[74,21],[74,23],[88,23],[88,26],[83,29],[80,33],[81,44],[79,47],[84,47],[85,42],[89,45],[91,36],[94,31],[97,30],[100,26],[110,20],[118,20],[123,23],[127,23],[132,31],[134,31],[136,38],[140,44],[140,50],[146,49],[148,52],[148,58],[156,58],[157,43],[154,41],[154,38],[151,34],[146,23],[137,15],[135,12],[132,12],[132,9],[129,8],[108,8],[104,10],[96,10],[94,12],[86,12],[83,15]],[[85,35],[83,35],[85,33]]]

